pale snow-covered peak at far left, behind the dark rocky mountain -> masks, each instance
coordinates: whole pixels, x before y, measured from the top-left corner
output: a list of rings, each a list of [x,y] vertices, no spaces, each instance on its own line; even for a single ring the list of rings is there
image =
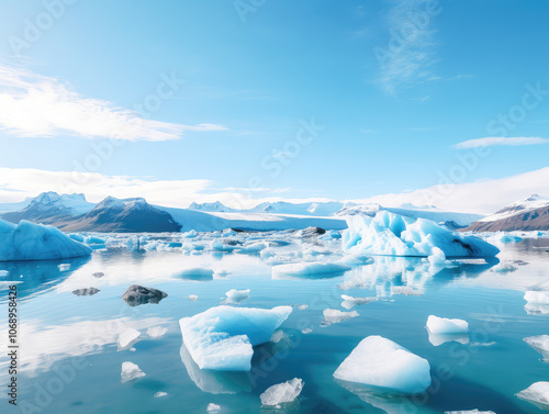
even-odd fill
[[[86,214],[93,209],[93,205],[86,200],[83,194],[59,195],[56,192],[49,191],[30,199],[21,210],[10,211],[0,216],[15,224],[21,220],[52,224]]]

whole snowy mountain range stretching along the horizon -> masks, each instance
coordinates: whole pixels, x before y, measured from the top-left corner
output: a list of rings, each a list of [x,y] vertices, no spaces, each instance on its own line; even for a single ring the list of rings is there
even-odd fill
[[[346,228],[345,216],[392,213],[433,220],[452,230],[494,232],[501,230],[549,230],[549,199],[534,194],[509,204],[492,215],[458,213],[433,205],[403,204],[386,208],[377,203],[352,202],[264,202],[253,209],[236,210],[220,201],[192,203],[188,209],[165,208],[143,198],[108,197],[94,204],[83,194],[44,192],[18,203],[0,203],[0,219],[52,224],[65,232],[180,232],[237,228],[248,231],[302,230],[318,226]]]

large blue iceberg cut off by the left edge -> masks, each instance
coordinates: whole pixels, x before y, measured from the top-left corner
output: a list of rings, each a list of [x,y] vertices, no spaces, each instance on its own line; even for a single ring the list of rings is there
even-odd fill
[[[0,261],[68,259],[92,251],[53,226],[0,220]]]

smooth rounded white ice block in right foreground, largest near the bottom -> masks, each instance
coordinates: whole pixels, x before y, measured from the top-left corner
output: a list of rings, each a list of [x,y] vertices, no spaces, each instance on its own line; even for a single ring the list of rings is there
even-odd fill
[[[430,385],[426,359],[381,336],[368,336],[334,372],[339,380],[381,388],[394,393],[416,394]]]

